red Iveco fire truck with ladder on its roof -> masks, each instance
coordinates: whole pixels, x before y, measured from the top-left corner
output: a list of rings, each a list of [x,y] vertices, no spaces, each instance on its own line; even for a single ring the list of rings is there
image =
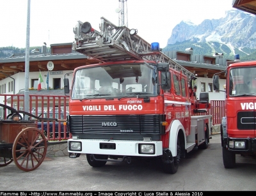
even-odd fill
[[[64,79],[70,158],[86,154],[92,167],[159,158],[174,174],[186,153],[208,146],[212,116],[198,113],[211,107],[209,94],[196,100],[196,76],[136,29],[104,17],[99,27],[78,21],[74,28],[73,49],[99,63],[76,68],[71,88]]]

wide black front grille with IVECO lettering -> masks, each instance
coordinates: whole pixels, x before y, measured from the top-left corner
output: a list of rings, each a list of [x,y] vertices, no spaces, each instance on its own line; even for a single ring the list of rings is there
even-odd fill
[[[163,133],[163,115],[69,116],[70,133]]]

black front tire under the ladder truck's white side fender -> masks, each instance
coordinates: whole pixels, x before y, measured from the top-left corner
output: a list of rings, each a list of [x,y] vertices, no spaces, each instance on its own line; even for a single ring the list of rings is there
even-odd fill
[[[163,163],[163,170],[167,174],[175,174],[179,168],[179,163],[180,163],[180,154],[181,154],[181,149],[180,149],[180,140],[179,137],[177,139],[177,156],[173,157],[173,162]],[[172,157],[169,158],[172,160]]]

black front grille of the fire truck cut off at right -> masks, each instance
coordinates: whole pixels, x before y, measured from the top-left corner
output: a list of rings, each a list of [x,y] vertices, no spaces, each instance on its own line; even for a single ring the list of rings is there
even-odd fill
[[[254,130],[255,114],[256,114],[255,112],[238,112],[237,128],[239,130]]]

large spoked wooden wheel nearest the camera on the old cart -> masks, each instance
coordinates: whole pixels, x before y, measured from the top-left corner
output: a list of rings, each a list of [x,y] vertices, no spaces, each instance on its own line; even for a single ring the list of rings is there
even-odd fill
[[[29,172],[38,168],[47,152],[45,135],[38,128],[22,130],[13,143],[12,156],[19,169]]]

